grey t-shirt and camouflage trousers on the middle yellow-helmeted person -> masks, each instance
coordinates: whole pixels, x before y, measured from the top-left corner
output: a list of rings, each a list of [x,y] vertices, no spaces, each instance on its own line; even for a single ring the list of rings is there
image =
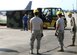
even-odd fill
[[[58,29],[56,29],[56,32],[58,33],[57,38],[61,47],[61,50],[63,50],[63,40],[64,40],[64,19],[59,18],[56,21],[56,27],[58,26]]]

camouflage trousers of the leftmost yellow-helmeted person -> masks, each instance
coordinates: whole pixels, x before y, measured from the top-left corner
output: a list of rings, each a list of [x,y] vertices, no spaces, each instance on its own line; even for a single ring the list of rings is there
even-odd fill
[[[41,32],[40,30],[35,30],[32,32],[32,36],[30,39],[30,45],[31,45],[31,50],[34,49],[34,41],[35,39],[37,40],[37,47],[36,49],[39,50],[40,49],[40,41],[41,41]]]

